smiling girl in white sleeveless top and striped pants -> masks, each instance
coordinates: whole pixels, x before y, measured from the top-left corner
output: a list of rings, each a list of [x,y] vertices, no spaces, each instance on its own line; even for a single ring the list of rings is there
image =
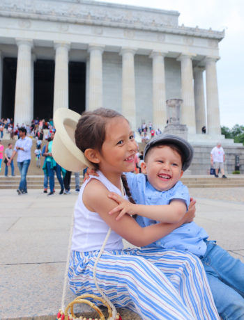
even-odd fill
[[[77,295],[100,296],[93,269],[111,227],[96,279],[116,307],[128,307],[147,320],[219,319],[199,259],[177,250],[123,250],[122,238],[146,246],[188,221],[184,218],[175,225],[158,223],[142,228],[131,216],[116,221],[116,215],[108,214],[116,207],[109,192],[122,195],[121,173],[134,168],[137,145],[128,121],[109,109],[86,112],[77,124],[75,143],[96,166],[98,177],[84,182],[75,205],[70,289]]]

